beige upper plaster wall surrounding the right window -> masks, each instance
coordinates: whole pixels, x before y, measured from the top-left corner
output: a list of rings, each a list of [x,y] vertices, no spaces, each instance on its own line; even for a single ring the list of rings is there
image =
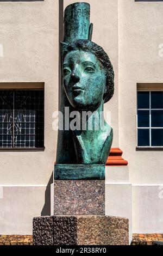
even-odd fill
[[[162,2],[119,1],[119,146],[133,184],[163,181],[162,151],[136,151],[136,84],[163,81],[162,16]]]

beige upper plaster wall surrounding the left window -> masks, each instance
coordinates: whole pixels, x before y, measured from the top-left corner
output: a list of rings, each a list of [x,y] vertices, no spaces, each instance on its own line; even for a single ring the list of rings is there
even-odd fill
[[[0,2],[0,9],[0,84],[45,82],[45,151],[0,151],[0,184],[47,185],[57,147],[59,1]]]

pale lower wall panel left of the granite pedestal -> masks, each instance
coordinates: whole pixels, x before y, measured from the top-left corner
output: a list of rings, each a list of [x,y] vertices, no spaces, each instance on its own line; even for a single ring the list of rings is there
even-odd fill
[[[46,186],[0,186],[0,234],[32,235],[33,217],[50,215],[45,204],[46,189]]]

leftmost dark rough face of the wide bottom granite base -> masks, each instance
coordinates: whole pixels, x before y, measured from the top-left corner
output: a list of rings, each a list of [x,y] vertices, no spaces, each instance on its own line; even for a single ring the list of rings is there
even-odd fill
[[[53,245],[53,230],[53,216],[42,216],[33,218],[34,245]]]

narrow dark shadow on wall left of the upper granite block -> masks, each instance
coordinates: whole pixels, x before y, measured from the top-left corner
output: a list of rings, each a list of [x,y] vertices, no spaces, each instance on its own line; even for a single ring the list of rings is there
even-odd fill
[[[48,181],[45,191],[45,204],[43,205],[41,216],[51,215],[51,184],[53,183],[53,172],[51,178]]]

